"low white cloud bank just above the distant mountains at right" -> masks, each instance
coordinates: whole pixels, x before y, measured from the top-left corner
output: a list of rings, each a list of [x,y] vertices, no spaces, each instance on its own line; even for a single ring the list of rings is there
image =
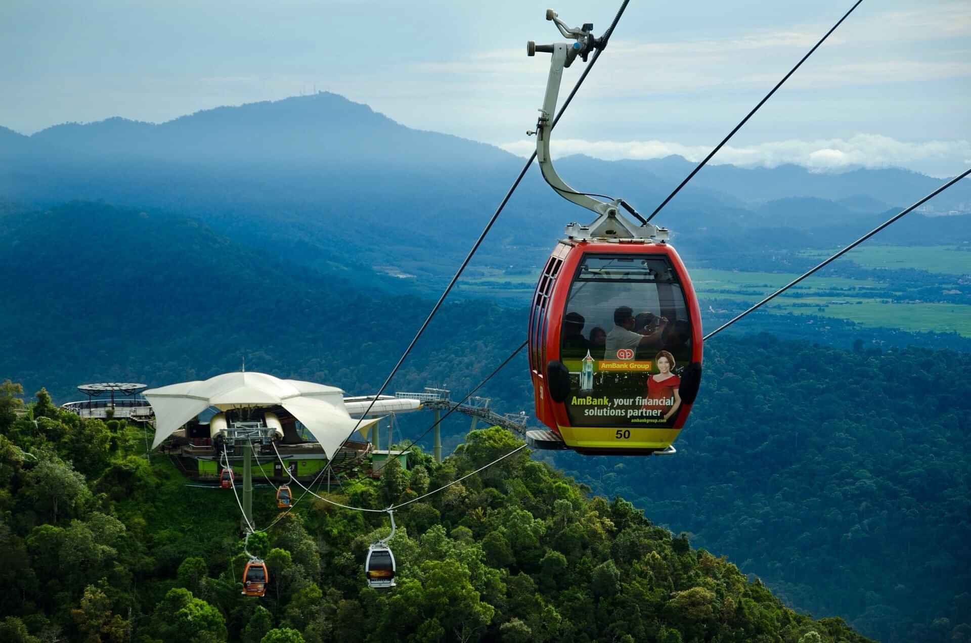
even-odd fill
[[[528,156],[535,145],[532,140],[524,140],[500,147],[507,152]],[[552,142],[552,152],[554,156],[584,153],[605,160],[661,158],[679,154],[690,161],[700,161],[711,152],[711,148],[665,141],[562,139]],[[954,176],[966,169],[969,156],[971,143],[968,141],[907,143],[879,134],[856,134],[849,139],[791,139],[743,148],[725,146],[710,162],[716,165],[730,163],[763,167],[794,163],[820,172],[849,167],[907,167],[935,176]]]

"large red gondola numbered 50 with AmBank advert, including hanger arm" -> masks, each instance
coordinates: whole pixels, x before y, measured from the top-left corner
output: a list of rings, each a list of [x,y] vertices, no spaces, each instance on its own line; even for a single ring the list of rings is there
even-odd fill
[[[701,312],[685,264],[668,231],[622,199],[578,192],[556,174],[550,157],[552,116],[564,67],[597,47],[592,25],[570,29],[577,41],[536,46],[552,53],[546,99],[535,133],[546,182],[594,212],[570,223],[547,260],[529,314],[529,367],[536,417],[552,430],[531,430],[537,449],[587,455],[673,454],[701,383]],[[640,225],[619,214],[623,208]]]

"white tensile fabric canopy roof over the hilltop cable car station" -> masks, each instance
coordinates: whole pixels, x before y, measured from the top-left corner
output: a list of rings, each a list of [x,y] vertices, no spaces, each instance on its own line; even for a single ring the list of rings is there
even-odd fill
[[[279,404],[310,430],[328,459],[334,457],[355,426],[366,434],[378,422],[378,419],[353,420],[344,407],[341,389],[281,380],[265,373],[224,373],[205,381],[149,389],[142,394],[155,412],[152,449],[210,406],[228,411]]]

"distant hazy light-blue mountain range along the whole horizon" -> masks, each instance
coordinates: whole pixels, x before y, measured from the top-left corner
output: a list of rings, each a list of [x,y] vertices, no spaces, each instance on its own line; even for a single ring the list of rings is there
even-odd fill
[[[0,153],[0,198],[42,207],[103,199],[163,209],[278,259],[323,270],[379,266],[415,275],[429,288],[451,276],[523,162],[492,146],[405,127],[324,92],[157,125],[109,118],[31,137],[5,130],[0,147],[6,151]],[[645,214],[693,166],[680,156],[557,161],[572,186],[622,196]],[[829,247],[876,224],[887,209],[882,204],[910,203],[938,185],[902,170],[832,175],[792,165],[711,166],[655,222],[672,230],[683,252],[706,258],[733,238],[766,247]],[[969,193],[955,186],[933,207],[971,203]],[[844,198],[854,199],[853,207],[835,202]],[[587,219],[534,168],[472,268],[535,268],[565,223]],[[956,220],[935,220],[906,238],[943,243],[954,234],[971,238],[966,223]],[[893,235],[900,238],[897,229]]]

